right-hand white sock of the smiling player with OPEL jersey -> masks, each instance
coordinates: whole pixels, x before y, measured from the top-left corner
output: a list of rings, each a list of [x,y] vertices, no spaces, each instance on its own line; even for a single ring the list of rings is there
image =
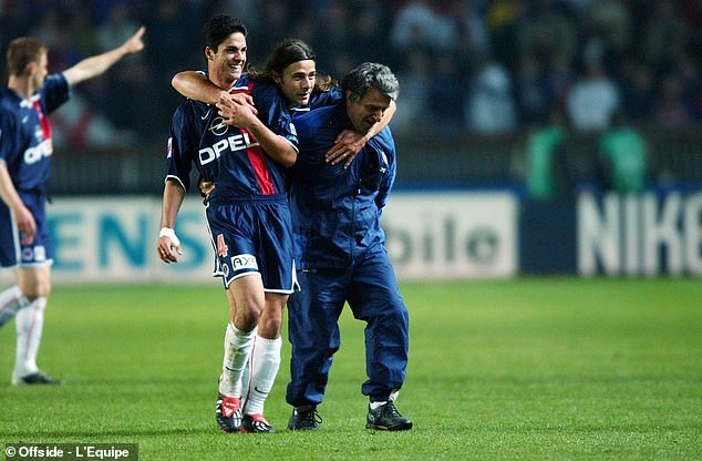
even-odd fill
[[[251,351],[250,381],[245,389],[245,414],[264,414],[264,403],[270,393],[280,368],[282,339],[256,337]]]

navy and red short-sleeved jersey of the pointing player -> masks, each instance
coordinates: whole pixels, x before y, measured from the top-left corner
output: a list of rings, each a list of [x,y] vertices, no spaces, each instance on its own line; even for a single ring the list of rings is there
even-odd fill
[[[29,100],[8,88],[0,89],[0,160],[18,191],[43,192],[53,154],[48,116],[69,96],[63,74],[49,75]]]

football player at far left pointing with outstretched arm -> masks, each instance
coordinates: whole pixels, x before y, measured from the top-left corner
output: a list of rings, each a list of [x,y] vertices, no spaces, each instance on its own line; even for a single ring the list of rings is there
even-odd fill
[[[14,269],[17,285],[0,293],[0,326],[16,318],[13,385],[61,382],[37,366],[53,263],[44,214],[53,155],[49,114],[69,100],[72,86],[142,51],[144,31],[52,75],[44,43],[19,38],[9,44],[10,76],[0,89],[0,267]]]

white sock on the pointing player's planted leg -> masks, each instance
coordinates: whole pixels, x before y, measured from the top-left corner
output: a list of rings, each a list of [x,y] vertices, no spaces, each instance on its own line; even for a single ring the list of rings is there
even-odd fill
[[[44,327],[47,298],[39,297],[17,313],[17,355],[14,357],[14,376],[23,377],[39,371],[37,354]]]

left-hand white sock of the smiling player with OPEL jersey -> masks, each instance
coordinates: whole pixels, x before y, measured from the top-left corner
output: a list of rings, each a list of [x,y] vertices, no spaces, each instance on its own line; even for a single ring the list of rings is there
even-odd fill
[[[241,331],[231,322],[225,334],[225,358],[221,363],[219,392],[225,396],[241,396],[241,373],[249,359],[256,330]]]

